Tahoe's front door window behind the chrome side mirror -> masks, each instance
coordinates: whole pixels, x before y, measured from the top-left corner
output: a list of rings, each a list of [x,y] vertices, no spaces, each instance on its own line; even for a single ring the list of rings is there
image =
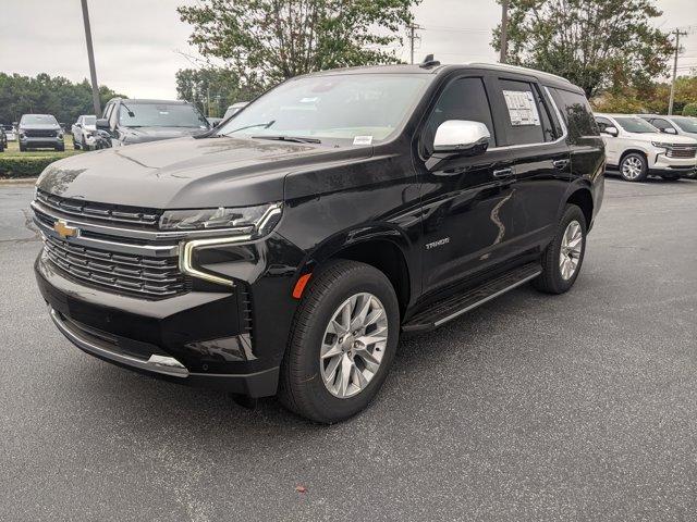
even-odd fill
[[[433,152],[436,130],[441,123],[448,120],[468,120],[484,123],[491,135],[489,147],[496,145],[491,109],[481,78],[455,79],[440,95],[424,129],[424,145],[428,156]]]

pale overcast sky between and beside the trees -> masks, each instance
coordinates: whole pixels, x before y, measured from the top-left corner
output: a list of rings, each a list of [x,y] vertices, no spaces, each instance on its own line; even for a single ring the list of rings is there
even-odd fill
[[[193,1],[89,0],[99,83],[132,98],[174,98],[174,74],[192,66],[182,53],[197,55],[175,8]],[[697,0],[657,3],[663,29],[692,26],[678,63],[687,72],[697,66]],[[424,0],[414,13],[424,27],[419,61],[430,52],[444,63],[497,60],[489,46],[500,17],[494,0]],[[408,60],[408,49],[399,51]],[[0,71],[88,77],[80,0],[0,0]]]

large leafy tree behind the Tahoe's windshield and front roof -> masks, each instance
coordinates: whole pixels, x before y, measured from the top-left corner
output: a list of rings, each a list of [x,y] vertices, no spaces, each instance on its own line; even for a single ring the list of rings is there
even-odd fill
[[[178,9],[189,42],[266,85],[325,69],[398,61],[420,0],[200,0]]]

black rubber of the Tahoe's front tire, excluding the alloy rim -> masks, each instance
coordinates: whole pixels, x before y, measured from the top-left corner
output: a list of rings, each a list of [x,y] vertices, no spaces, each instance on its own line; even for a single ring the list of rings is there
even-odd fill
[[[319,276],[321,277],[321,274]],[[313,287],[308,290],[313,291]],[[342,399],[334,397],[322,382],[319,361],[321,341],[325,330],[339,306],[352,295],[363,291],[376,296],[384,307],[388,315],[388,343],[378,373],[368,386],[356,396]],[[298,313],[311,313],[311,322],[302,335],[295,335],[292,339],[290,349],[294,351],[292,356],[299,363],[301,375],[299,382],[291,385],[294,387],[293,393],[302,397],[302,402],[309,410],[309,417],[319,422],[331,423],[347,419],[365,409],[387,378],[399,344],[400,310],[389,279],[372,266],[362,264],[321,291],[320,301],[316,306],[303,307]],[[307,415],[308,411],[301,413]]]

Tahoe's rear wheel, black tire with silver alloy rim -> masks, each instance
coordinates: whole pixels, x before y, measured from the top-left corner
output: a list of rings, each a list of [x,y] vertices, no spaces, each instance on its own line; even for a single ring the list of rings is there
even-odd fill
[[[568,256],[564,256],[564,259],[562,259],[562,244],[564,243],[565,235],[570,234],[571,229],[575,231],[575,227],[572,226],[573,223],[578,225],[580,248],[577,251],[572,251],[573,249],[570,250],[567,247],[564,247],[564,250],[568,251]],[[557,226],[554,239],[542,253],[542,273],[533,281],[535,288],[546,294],[563,294],[574,286],[586,253],[586,217],[583,211],[575,204],[567,204],[564,210],[564,215]],[[576,260],[573,273],[571,274],[563,272],[563,268],[568,266],[568,264],[566,264],[567,259],[572,264],[572,260]]]

